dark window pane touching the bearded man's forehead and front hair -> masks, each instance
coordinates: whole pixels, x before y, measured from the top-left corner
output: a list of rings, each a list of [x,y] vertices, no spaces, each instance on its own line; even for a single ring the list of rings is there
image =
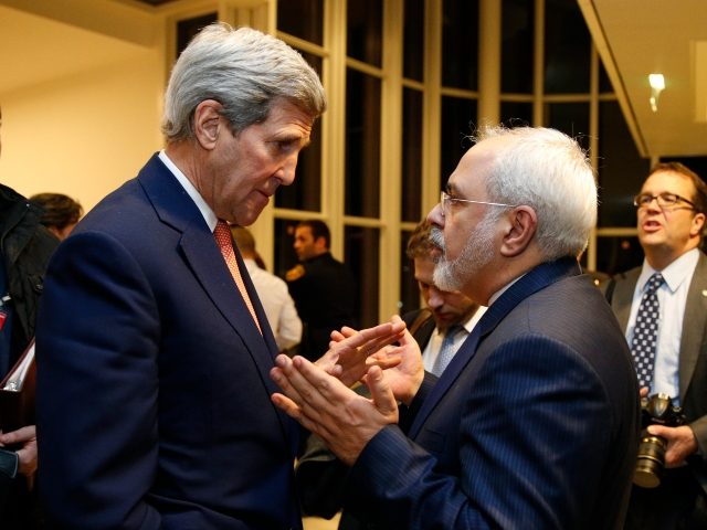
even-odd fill
[[[442,97],[442,146],[440,147],[440,189],[460,162],[462,155],[472,147],[468,135],[475,131],[476,100]]]

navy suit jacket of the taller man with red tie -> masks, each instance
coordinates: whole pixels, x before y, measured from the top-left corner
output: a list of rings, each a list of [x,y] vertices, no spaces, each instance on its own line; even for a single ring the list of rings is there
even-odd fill
[[[157,158],[54,255],[40,308],[40,489],[59,528],[302,528],[296,425],[197,205]]]

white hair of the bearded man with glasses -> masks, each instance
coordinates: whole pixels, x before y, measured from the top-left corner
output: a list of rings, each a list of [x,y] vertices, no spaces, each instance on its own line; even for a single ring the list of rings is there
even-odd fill
[[[498,137],[508,141],[494,151],[488,200],[535,210],[536,241],[546,259],[578,256],[597,223],[597,182],[585,152],[574,139],[547,128],[485,127],[474,139]]]

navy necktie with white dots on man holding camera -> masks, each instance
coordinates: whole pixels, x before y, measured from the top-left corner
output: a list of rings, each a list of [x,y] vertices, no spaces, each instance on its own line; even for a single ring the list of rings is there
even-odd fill
[[[651,386],[653,382],[653,365],[655,362],[655,347],[658,337],[658,317],[661,315],[657,290],[665,283],[663,275],[655,273],[646,282],[645,292],[639,306],[636,324],[633,328],[631,353],[636,365],[639,386]]]

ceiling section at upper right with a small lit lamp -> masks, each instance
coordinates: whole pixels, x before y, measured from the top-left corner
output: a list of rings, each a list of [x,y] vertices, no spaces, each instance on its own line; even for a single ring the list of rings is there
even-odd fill
[[[643,156],[707,156],[707,1],[578,0]],[[651,109],[648,74],[665,89]]]

